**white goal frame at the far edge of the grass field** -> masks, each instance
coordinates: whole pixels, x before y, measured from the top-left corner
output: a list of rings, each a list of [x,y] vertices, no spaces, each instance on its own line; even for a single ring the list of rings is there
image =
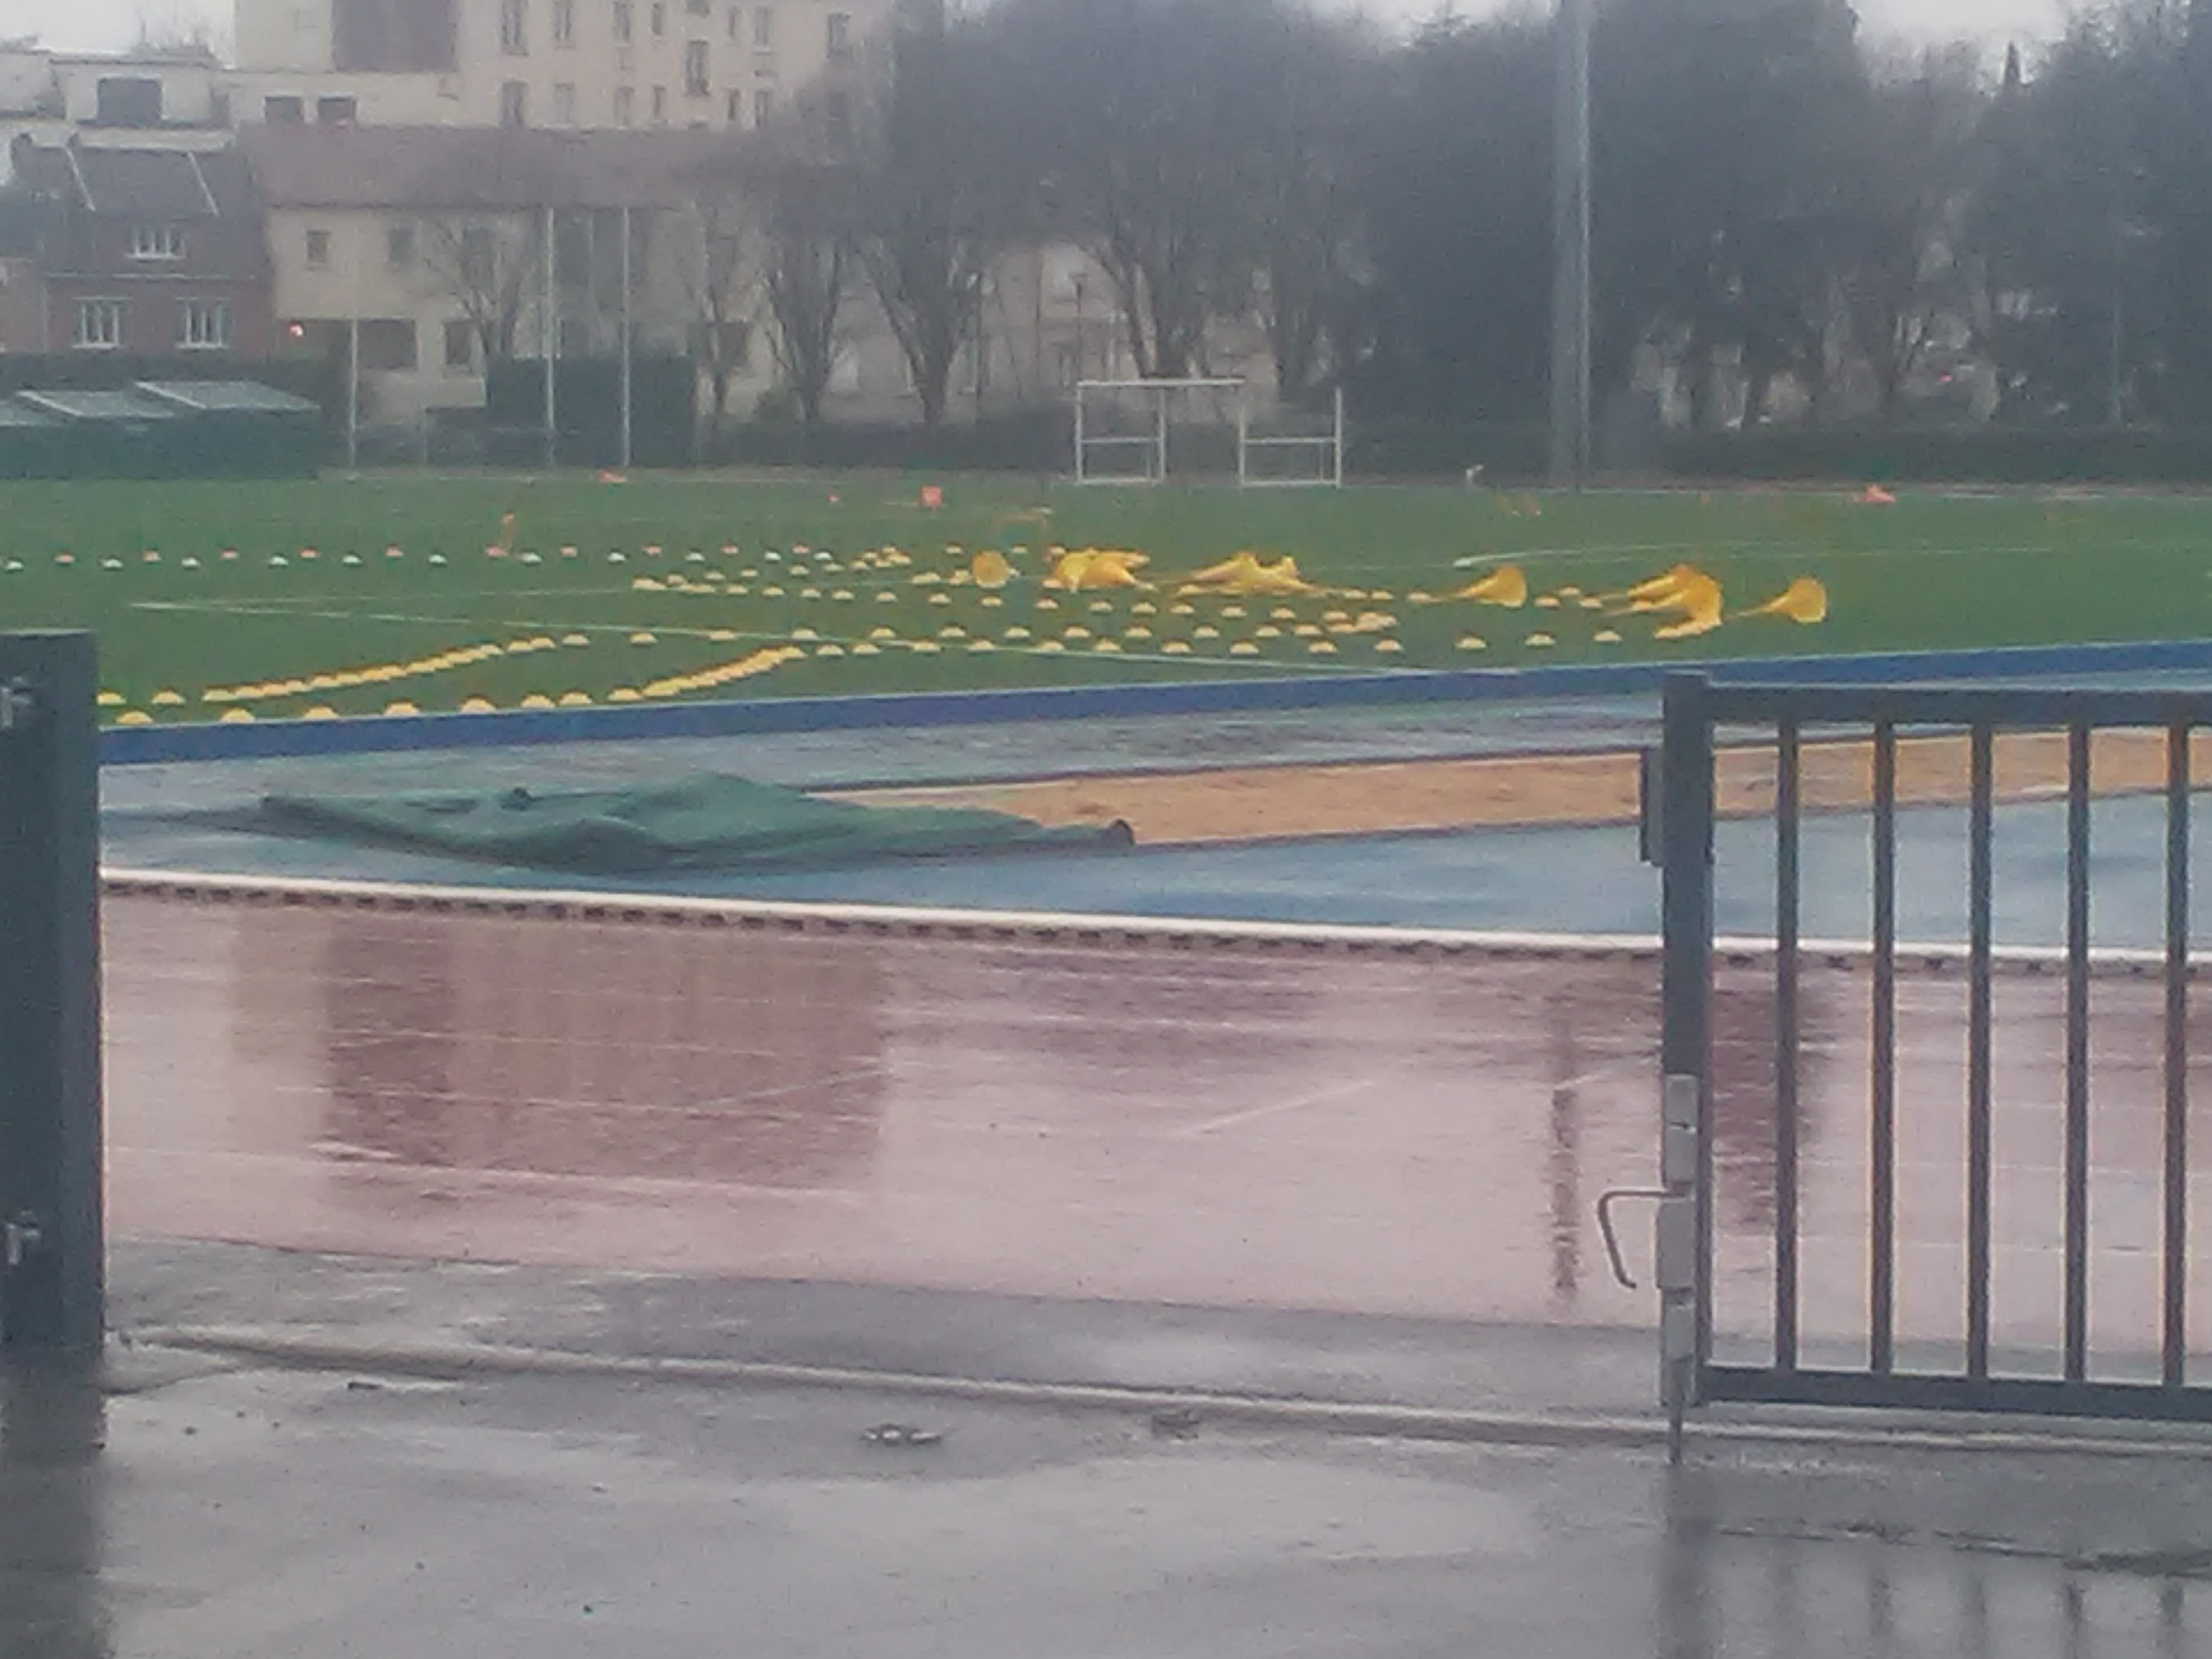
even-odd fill
[[[1316,425],[1301,427],[1283,416],[1254,420],[1245,380],[1077,380],[1075,482],[1225,478],[1234,460],[1239,489],[1343,487],[1343,389],[1329,400],[1327,425]]]

